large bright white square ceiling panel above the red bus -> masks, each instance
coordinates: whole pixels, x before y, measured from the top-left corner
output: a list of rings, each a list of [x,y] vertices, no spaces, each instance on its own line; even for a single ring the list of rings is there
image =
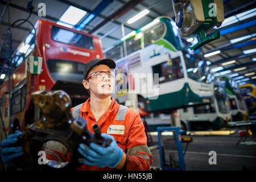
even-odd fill
[[[69,6],[65,13],[60,17],[60,21],[73,26],[77,24],[86,15],[86,11],[74,6]]]

